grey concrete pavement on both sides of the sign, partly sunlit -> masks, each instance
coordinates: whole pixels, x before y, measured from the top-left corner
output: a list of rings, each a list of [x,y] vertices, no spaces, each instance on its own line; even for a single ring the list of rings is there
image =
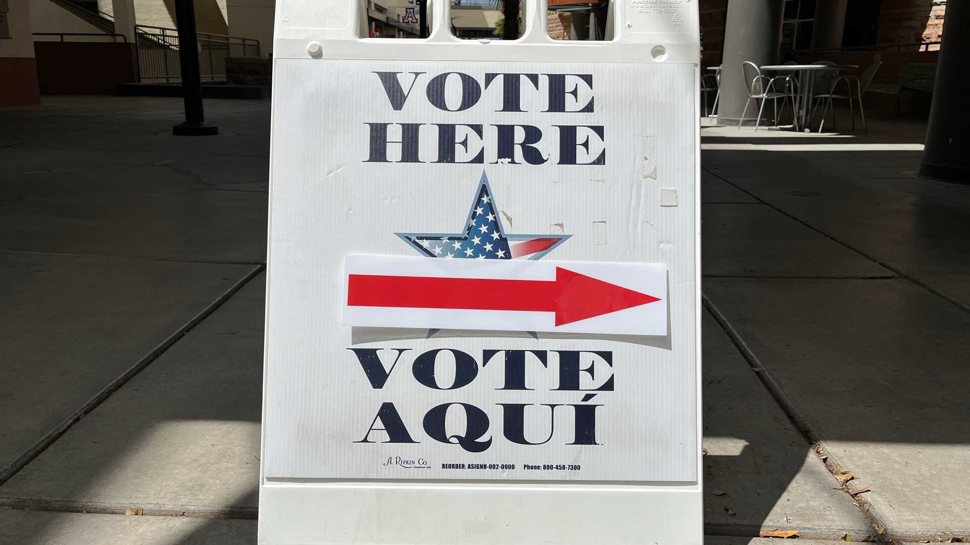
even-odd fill
[[[3,543],[255,542],[269,102],[206,108],[0,111]],[[970,187],[919,125],[702,134],[709,542],[970,538]]]

